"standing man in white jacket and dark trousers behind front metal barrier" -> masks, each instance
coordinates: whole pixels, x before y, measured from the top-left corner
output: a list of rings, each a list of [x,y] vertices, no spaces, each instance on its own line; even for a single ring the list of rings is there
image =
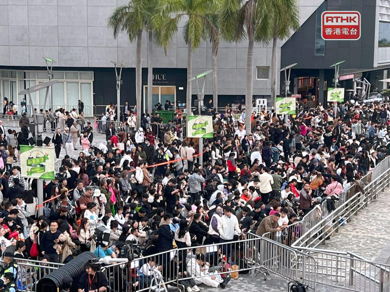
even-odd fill
[[[224,206],[223,213],[225,214],[218,221],[217,229],[220,234],[220,243],[228,243],[233,240],[234,235],[241,234],[241,229],[238,224],[238,219],[236,215],[232,213],[232,208],[230,206]],[[222,254],[226,255],[228,259],[230,247],[230,244],[222,246]]]

